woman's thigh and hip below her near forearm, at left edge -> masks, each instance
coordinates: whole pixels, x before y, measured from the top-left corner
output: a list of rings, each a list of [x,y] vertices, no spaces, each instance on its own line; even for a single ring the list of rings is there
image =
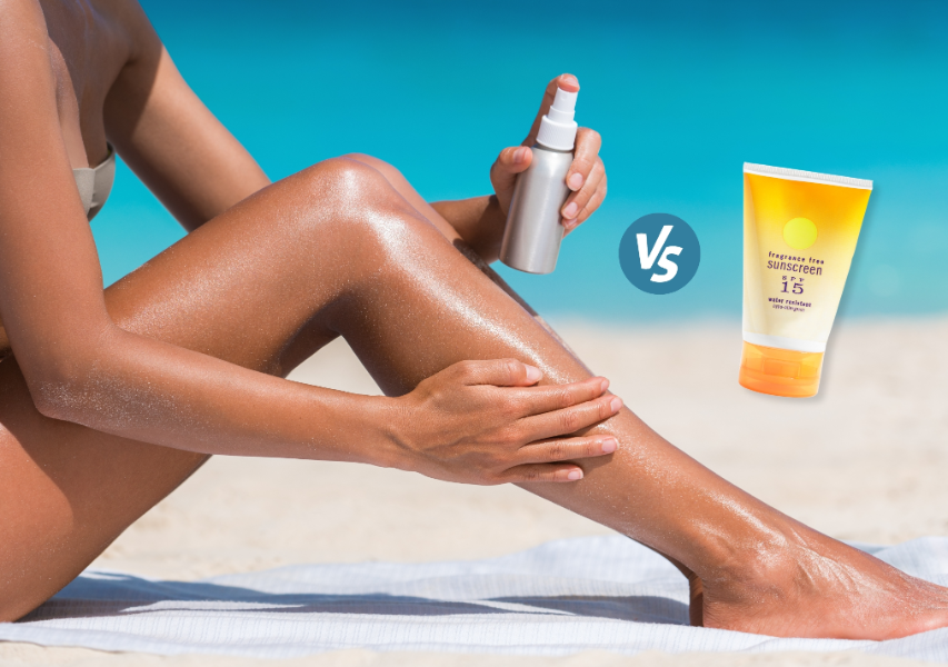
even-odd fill
[[[31,610],[207,459],[42,417],[0,362],[0,621]]]

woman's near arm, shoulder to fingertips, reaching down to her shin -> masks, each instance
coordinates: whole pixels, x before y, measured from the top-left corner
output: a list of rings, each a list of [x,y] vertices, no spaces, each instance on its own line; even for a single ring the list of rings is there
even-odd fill
[[[140,141],[153,145],[147,136]],[[503,408],[512,400],[529,399],[531,414],[555,419],[568,398],[576,405],[566,411],[579,418],[563,422],[580,427],[607,416],[601,410],[608,397],[592,400],[605,390],[601,379],[499,389],[539,379],[539,371],[517,361],[447,369],[406,401],[287,381],[118,328],[106,308],[96,246],[59,126],[50,42],[37,0],[0,0],[0,317],[33,401],[48,417],[207,454],[407,469],[426,460],[429,470],[438,469],[431,468],[430,451],[406,442],[418,442],[418,427],[433,426],[440,435],[421,447],[437,448],[441,438],[441,449],[453,451],[457,442],[483,455],[469,456],[460,469],[446,467],[446,477],[483,484],[537,475],[536,466],[518,466],[512,474],[507,466],[517,458],[510,434],[531,441],[549,437],[529,437],[537,430],[532,421],[510,419]],[[416,407],[406,418],[408,406]],[[406,437],[399,428],[415,430]],[[508,437],[496,435],[505,429]],[[501,440],[507,449],[496,445]],[[568,458],[576,457],[560,451],[557,460]],[[543,478],[566,481],[572,470],[578,468],[569,464],[546,467]]]

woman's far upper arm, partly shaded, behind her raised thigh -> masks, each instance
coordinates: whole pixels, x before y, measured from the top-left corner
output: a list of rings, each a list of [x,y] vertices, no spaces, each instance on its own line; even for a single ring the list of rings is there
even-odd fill
[[[106,99],[106,133],[190,231],[270,180],[181,78],[138,2],[122,12],[131,53]]]

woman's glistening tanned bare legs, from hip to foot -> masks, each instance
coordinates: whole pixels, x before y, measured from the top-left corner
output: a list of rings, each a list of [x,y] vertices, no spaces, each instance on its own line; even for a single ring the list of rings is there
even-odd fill
[[[107,297],[123,327],[269,372],[341,334],[389,394],[461,359],[515,356],[545,382],[588,376],[355,160],[267,188]],[[42,418],[11,360],[0,364],[0,618],[11,618],[74,577],[201,457]],[[580,482],[530,490],[697,573],[709,625],[881,638],[948,623],[942,589],[756,501],[630,411],[598,428],[620,442],[610,461],[583,464]]]

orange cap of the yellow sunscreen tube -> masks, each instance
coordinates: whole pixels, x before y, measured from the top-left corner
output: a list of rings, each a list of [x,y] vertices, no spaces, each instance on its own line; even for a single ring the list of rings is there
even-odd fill
[[[819,390],[822,355],[745,341],[738,381],[742,387],[760,394],[809,398]]]

